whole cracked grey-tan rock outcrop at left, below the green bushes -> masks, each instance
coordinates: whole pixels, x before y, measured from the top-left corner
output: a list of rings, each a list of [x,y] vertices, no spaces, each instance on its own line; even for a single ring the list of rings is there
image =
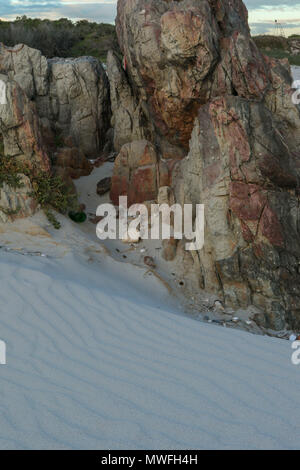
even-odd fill
[[[71,187],[71,178],[88,175],[87,157],[99,156],[110,125],[109,86],[100,62],[91,57],[47,61],[27,46],[0,45],[0,79],[7,101],[0,105],[5,155],[37,172],[50,172],[53,163]],[[0,206],[7,214],[15,212],[14,194],[20,216],[35,209],[26,187],[30,190],[26,183],[18,195],[11,190],[11,197],[7,188],[2,191]]]

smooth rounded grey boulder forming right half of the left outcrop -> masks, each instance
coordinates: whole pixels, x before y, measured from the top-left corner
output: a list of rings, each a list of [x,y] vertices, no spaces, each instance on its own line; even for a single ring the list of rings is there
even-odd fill
[[[37,96],[41,117],[56,134],[70,136],[86,157],[99,155],[109,127],[109,86],[101,63],[93,57],[51,59],[49,92]]]

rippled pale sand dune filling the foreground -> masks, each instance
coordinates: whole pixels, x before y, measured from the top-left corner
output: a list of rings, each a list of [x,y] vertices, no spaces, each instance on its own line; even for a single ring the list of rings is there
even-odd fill
[[[1,449],[300,448],[291,345],[184,317],[109,257],[0,252]]]

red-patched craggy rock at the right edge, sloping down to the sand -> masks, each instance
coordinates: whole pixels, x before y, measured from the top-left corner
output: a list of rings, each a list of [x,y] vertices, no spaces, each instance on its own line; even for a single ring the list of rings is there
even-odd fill
[[[269,327],[299,326],[298,176],[270,111],[239,97],[201,107],[175,186],[182,203],[205,204],[201,287],[261,307]]]

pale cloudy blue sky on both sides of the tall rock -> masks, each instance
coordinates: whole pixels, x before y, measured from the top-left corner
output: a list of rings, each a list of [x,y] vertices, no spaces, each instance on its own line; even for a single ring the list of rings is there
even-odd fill
[[[16,16],[114,23],[116,0],[0,0],[0,18]],[[245,0],[252,34],[272,34],[275,19],[285,34],[300,34],[300,0]]]

